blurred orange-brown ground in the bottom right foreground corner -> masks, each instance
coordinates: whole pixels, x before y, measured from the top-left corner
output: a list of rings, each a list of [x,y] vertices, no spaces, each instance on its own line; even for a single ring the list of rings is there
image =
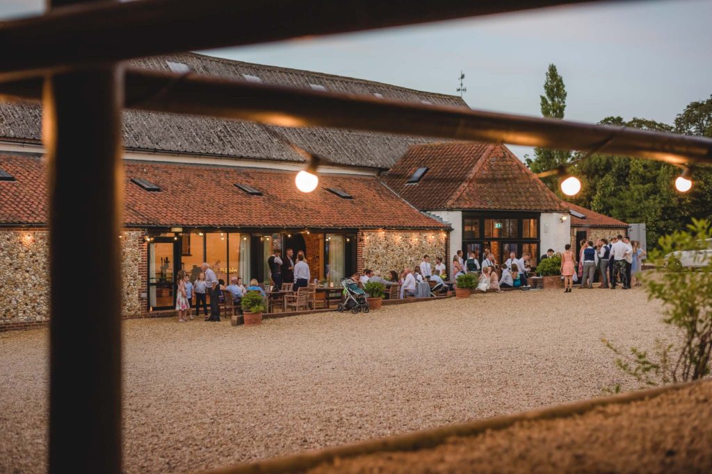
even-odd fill
[[[308,473],[709,473],[711,421],[706,382],[579,416],[452,437],[432,449],[337,459]]]

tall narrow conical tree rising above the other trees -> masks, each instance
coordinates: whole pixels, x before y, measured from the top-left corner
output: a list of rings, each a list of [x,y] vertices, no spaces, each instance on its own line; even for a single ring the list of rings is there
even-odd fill
[[[556,66],[549,65],[544,82],[544,95],[540,96],[541,114],[544,117],[563,119],[566,109],[566,87],[564,78],[556,70]],[[534,149],[534,158],[526,158],[527,166],[534,173],[548,171],[571,161],[570,151],[550,150],[544,148]],[[560,193],[558,178],[550,176],[543,181],[555,193]]]

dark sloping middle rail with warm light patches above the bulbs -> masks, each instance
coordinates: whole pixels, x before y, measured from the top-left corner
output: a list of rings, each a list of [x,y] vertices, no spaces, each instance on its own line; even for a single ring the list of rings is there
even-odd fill
[[[128,70],[125,87],[130,109],[712,164],[712,139],[697,136],[152,70]],[[0,84],[0,99],[38,99],[40,88],[36,79]]]

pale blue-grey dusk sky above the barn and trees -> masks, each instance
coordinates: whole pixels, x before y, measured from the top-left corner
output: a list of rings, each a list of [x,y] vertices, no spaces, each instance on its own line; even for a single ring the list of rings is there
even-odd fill
[[[37,14],[42,5],[5,0],[0,16]],[[604,3],[209,53],[446,94],[457,93],[463,70],[470,107],[528,115],[540,114],[554,63],[568,92],[567,119],[671,123],[712,94],[710,18],[710,0]]]

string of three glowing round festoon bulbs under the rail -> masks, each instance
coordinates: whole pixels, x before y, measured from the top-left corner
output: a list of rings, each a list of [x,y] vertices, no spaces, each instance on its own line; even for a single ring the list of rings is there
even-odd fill
[[[317,175],[317,168],[319,167],[321,158],[319,158],[313,153],[309,153],[304,149],[300,149],[294,144],[291,144],[291,146],[293,147],[293,149],[295,149],[295,151],[297,151],[300,155],[305,156],[305,158],[307,159],[306,168],[302,171],[299,171],[294,179],[295,185],[297,186],[297,189],[300,190],[302,193],[311,193],[319,185],[319,176]],[[591,153],[587,153],[587,155],[577,159],[573,163],[569,163],[567,166],[573,166],[575,163],[578,163],[590,156],[590,154]],[[581,180],[569,173],[567,166],[559,166],[557,168],[554,168],[553,170],[543,171],[542,173],[537,173],[536,176],[538,176],[539,178],[546,178],[547,176],[559,176],[559,187],[561,189],[561,192],[567,196],[575,196],[581,191]],[[692,189],[692,173],[690,171],[690,168],[683,165],[676,166],[682,168],[683,171],[681,175],[678,176],[675,180],[675,188],[680,193],[687,193],[689,190]]]

